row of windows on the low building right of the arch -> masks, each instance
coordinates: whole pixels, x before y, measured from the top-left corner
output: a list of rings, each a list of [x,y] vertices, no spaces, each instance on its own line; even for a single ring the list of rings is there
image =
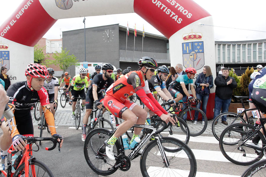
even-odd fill
[[[230,47],[232,47],[231,52]],[[227,51],[227,55],[225,55],[225,51]],[[242,56],[240,55],[241,52]],[[241,61],[256,62],[257,59],[258,62],[266,61],[266,42],[252,44],[217,44],[218,63],[230,62],[230,57],[232,57],[233,63]]]

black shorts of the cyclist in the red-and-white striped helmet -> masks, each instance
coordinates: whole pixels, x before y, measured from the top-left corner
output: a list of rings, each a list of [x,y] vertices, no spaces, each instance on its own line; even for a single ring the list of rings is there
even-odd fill
[[[17,130],[20,132],[20,135],[33,135],[33,123],[32,117],[29,112],[14,112],[14,117],[17,124]]]

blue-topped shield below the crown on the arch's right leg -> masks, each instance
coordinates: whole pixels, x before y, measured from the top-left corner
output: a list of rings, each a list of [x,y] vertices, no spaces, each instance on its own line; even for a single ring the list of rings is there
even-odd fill
[[[198,70],[204,66],[203,41],[182,43],[182,53],[185,68],[192,67]]]

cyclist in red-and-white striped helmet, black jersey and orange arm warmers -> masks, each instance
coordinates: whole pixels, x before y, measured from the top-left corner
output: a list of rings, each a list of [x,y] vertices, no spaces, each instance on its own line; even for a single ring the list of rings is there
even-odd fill
[[[38,63],[30,63],[25,70],[27,81],[16,82],[7,89],[9,96],[8,105],[14,112],[14,117],[9,121],[10,139],[15,150],[24,150],[26,146],[22,135],[33,136],[33,123],[30,108],[40,101],[48,127],[51,130],[52,138],[57,139],[60,146],[63,140],[60,135],[56,134],[54,117],[50,109],[49,97],[46,89],[43,87],[44,81],[48,75],[45,67]]]

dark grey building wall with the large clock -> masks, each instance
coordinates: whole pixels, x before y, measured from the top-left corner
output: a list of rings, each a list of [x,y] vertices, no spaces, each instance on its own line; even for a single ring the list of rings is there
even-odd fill
[[[109,38],[107,37],[107,34]],[[86,28],[86,61],[104,62],[119,66],[119,26],[107,25]],[[84,29],[63,32],[63,49],[67,48],[69,55],[74,54],[79,62],[85,61]],[[75,66],[69,68],[72,76]]]

